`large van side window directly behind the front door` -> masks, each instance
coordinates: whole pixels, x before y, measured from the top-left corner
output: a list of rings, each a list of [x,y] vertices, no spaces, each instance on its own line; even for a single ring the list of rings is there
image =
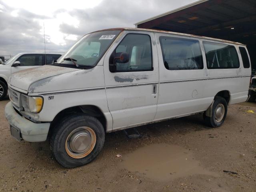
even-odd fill
[[[168,70],[191,70],[204,68],[198,40],[160,37],[164,66]]]

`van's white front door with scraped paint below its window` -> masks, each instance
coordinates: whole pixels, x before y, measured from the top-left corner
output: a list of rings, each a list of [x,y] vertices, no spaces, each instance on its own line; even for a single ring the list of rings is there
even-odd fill
[[[158,100],[158,56],[153,32],[124,31],[104,58],[104,78],[113,130],[150,122],[156,115]],[[126,63],[115,62],[114,56],[125,52]]]

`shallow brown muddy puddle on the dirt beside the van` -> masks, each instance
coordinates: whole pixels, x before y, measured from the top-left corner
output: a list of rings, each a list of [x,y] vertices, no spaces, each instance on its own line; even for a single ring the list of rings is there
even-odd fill
[[[194,159],[191,150],[177,145],[151,144],[122,157],[120,168],[139,176],[158,181],[168,181],[194,174],[218,176]]]

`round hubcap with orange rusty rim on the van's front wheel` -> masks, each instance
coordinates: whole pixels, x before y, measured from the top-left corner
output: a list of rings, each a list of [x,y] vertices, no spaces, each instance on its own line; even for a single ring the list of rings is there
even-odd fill
[[[84,158],[92,152],[96,134],[90,127],[78,127],[68,135],[65,143],[67,154],[72,158]]]

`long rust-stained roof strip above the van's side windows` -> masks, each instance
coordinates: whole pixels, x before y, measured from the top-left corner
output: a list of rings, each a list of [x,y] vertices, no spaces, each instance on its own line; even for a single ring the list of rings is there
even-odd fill
[[[138,31],[150,31],[150,32],[159,32],[159,33],[167,33],[167,34],[174,34],[174,35],[181,35],[181,36],[188,36],[188,37],[197,37],[201,39],[207,39],[207,40],[215,40],[225,43],[231,43],[231,44],[237,44],[237,45],[243,45],[239,42],[233,42],[229,40],[223,40],[223,39],[217,39],[217,38],[211,38],[211,37],[205,37],[205,36],[199,36],[199,35],[192,35],[192,34],[185,34],[185,33],[178,33],[178,32],[171,32],[171,31],[164,31],[164,30],[155,30],[155,29],[143,29],[143,28],[110,28],[110,29],[104,29],[104,30],[98,30],[98,31],[109,31],[109,30],[138,30]],[[95,31],[95,32],[98,32]]]

